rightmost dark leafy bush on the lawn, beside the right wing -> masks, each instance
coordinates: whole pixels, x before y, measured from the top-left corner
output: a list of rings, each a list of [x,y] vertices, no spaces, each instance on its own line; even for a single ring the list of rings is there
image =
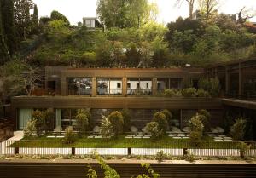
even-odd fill
[[[246,119],[245,118],[237,118],[236,123],[234,123],[230,128],[230,135],[232,135],[235,141],[243,140],[246,128]]]

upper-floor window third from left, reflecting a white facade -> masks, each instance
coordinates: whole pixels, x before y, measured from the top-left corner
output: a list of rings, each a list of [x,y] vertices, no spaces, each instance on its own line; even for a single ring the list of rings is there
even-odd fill
[[[128,78],[127,95],[152,95],[152,78]]]

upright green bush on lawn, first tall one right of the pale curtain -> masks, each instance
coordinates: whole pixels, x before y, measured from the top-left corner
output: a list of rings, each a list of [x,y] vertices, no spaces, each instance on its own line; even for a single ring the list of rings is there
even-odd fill
[[[81,136],[86,132],[89,125],[88,118],[84,109],[78,110],[78,113],[76,115],[76,123],[76,128],[78,129],[79,135]]]

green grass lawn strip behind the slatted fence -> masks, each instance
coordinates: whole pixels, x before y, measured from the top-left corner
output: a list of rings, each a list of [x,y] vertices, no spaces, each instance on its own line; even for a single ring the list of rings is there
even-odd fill
[[[46,138],[26,138],[15,142],[12,147],[87,147],[87,148],[219,148],[236,149],[236,142],[233,141],[212,141],[211,137],[204,138],[203,141],[173,140],[165,136],[160,141],[148,139],[125,139],[125,135],[120,135],[118,139],[88,139],[77,137],[75,141],[67,142],[63,139]],[[255,148],[253,144],[252,148]]]

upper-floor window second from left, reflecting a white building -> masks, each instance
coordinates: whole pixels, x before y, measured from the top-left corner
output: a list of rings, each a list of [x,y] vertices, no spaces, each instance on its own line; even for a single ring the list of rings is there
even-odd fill
[[[97,78],[97,95],[122,95],[122,78]]]

